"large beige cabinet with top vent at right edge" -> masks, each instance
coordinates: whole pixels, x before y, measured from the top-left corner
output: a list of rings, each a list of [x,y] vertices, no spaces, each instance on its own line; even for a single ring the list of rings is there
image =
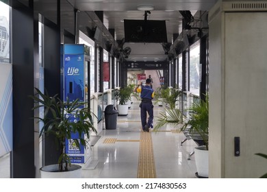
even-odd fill
[[[266,1],[218,1],[209,11],[209,178],[267,171],[255,156],[267,154],[266,11]]]

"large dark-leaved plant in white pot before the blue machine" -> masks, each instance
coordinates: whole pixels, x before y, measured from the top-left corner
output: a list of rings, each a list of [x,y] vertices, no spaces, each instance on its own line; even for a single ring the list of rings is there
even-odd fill
[[[40,135],[45,136],[53,135],[56,139],[56,143],[59,144],[58,149],[60,150],[60,156],[58,158],[58,165],[48,165],[42,167],[42,174],[44,177],[49,175],[50,171],[54,171],[53,174],[56,176],[51,176],[52,178],[58,178],[58,176],[63,172],[68,174],[63,176],[64,178],[73,177],[72,172],[75,169],[81,169],[79,165],[71,165],[71,158],[66,154],[66,140],[71,139],[71,134],[76,133],[78,135],[77,139],[73,139],[77,147],[86,147],[87,141],[84,136],[89,139],[90,132],[97,132],[93,126],[92,122],[92,112],[88,108],[82,108],[83,103],[79,102],[79,99],[75,101],[66,102],[60,100],[58,95],[53,97],[49,96],[48,93],[43,94],[38,88],[36,89],[36,94],[31,95],[32,99],[36,103],[33,110],[37,108],[44,108],[44,117],[34,117],[38,119],[38,122],[42,122],[42,129],[40,130]],[[70,117],[74,116],[75,121],[71,121]],[[51,168],[51,170],[49,170]],[[76,171],[77,172],[77,171]],[[81,171],[79,171],[81,172]],[[79,175],[80,173],[78,173]],[[78,176],[79,177],[79,176]]]

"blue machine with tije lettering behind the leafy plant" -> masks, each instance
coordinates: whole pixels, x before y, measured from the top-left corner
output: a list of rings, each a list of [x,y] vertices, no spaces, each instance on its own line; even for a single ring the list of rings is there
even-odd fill
[[[89,47],[80,44],[63,45],[63,100],[70,101],[79,99],[80,102],[86,101],[86,63],[90,61]],[[85,106],[84,106],[85,107]],[[70,121],[77,121],[74,114],[66,114]],[[86,149],[84,146],[75,145],[73,139],[77,139],[77,134],[72,133],[71,139],[66,139],[66,154],[70,156],[71,163],[86,163]]]

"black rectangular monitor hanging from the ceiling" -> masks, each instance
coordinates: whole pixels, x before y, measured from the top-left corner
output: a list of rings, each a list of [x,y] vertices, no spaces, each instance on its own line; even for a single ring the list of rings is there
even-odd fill
[[[125,42],[167,43],[165,21],[124,20]]]

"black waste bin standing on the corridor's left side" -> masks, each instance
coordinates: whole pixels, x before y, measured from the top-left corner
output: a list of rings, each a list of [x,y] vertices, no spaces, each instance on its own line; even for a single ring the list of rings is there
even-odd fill
[[[117,128],[118,110],[113,105],[105,107],[105,129],[116,130]]]

